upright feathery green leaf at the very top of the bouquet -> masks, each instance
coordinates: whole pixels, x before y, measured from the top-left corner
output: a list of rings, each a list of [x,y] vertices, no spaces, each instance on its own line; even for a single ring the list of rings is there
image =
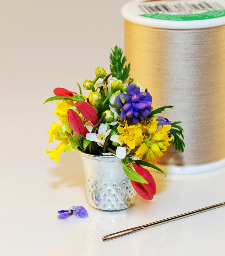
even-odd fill
[[[114,50],[110,53],[110,70],[113,72],[113,77],[122,80],[124,83],[128,77],[130,72],[130,63],[128,66],[124,66],[125,62],[127,61],[125,55],[123,56],[123,51],[118,46],[114,47]]]

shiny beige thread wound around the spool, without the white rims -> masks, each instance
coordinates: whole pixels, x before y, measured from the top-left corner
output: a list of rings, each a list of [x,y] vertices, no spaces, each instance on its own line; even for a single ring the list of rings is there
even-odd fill
[[[225,158],[225,25],[173,30],[125,20],[125,55],[154,109],[174,106],[159,115],[182,122],[184,153],[170,146],[157,162],[198,165]]]

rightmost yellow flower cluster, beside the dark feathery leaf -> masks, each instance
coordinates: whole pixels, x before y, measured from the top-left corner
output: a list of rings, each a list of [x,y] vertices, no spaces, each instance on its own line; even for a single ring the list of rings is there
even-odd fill
[[[167,150],[167,146],[170,145],[168,142],[172,140],[172,137],[169,138],[168,136],[171,125],[166,124],[156,130],[157,124],[156,118],[147,125],[143,124],[142,130],[144,137],[147,139],[143,141],[143,144],[140,145],[135,154],[140,160],[151,162],[152,164],[156,164],[156,155],[163,156],[162,151]]]

